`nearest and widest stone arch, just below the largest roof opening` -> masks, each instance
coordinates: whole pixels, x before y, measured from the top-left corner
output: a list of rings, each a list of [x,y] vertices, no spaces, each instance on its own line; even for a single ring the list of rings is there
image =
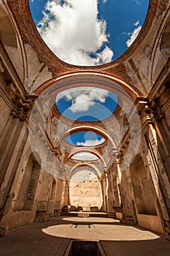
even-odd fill
[[[39,86],[35,93],[38,96],[48,94],[51,99],[53,99],[56,97],[56,94],[61,91],[72,89],[74,87],[86,86],[111,91],[112,93],[117,94],[121,99],[126,100],[128,100],[128,97],[134,100],[136,97],[142,97],[142,93],[139,89],[136,89],[130,83],[125,82],[121,78],[107,75],[102,72],[88,72],[88,70],[86,72],[74,72],[58,78],[52,78]],[[55,102],[54,99],[53,102]]]

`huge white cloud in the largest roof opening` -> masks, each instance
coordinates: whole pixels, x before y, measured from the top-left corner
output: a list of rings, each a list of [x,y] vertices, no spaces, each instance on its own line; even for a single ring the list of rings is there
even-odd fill
[[[58,58],[71,64],[112,61],[106,20],[98,20],[98,0],[49,0],[37,29]],[[102,48],[102,50],[100,50]]]

